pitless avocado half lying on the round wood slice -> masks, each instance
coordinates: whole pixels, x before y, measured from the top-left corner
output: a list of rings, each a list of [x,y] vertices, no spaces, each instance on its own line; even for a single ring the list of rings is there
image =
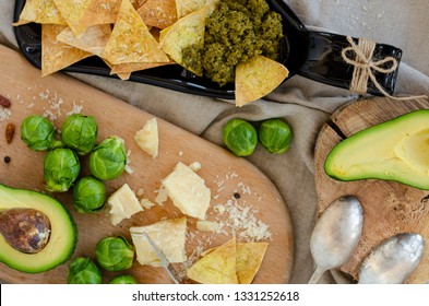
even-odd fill
[[[429,110],[362,130],[335,145],[325,173],[338,180],[384,179],[429,189]]]

